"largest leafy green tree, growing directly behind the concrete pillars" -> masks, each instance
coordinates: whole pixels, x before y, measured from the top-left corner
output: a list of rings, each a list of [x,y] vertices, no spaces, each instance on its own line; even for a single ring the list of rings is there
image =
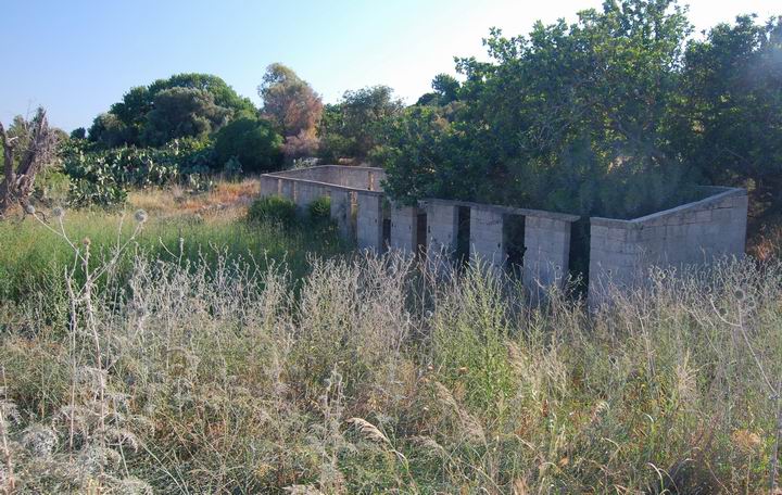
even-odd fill
[[[454,138],[436,150],[449,165],[389,163],[389,183],[399,183],[390,192],[411,194],[391,177],[399,170],[433,175],[434,195],[580,214],[634,216],[676,203],[691,179],[670,152],[668,117],[690,29],[672,0],[606,1],[573,24],[538,23],[527,37],[493,29],[490,62],[457,60],[458,89],[434,81],[438,98],[459,102],[447,117]]]

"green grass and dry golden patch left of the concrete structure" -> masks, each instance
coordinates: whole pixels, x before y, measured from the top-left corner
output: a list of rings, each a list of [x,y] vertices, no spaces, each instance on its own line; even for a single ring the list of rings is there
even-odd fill
[[[247,206],[257,195],[257,181],[248,180],[220,182],[214,191],[203,194],[178,189],[133,192],[123,211],[66,211],[63,227],[76,243],[90,240],[93,264],[109,257],[121,240],[134,232],[134,213],[139,208],[148,213],[149,220],[128,250],[165,261],[203,259],[214,264],[220,253],[229,259],[254,257],[261,266],[266,258],[287,259],[301,275],[308,253],[328,256],[345,250],[333,232],[248,225]],[[20,300],[52,280],[62,280],[63,270],[73,264],[67,242],[50,231],[60,230],[50,210],[38,212],[49,228],[29,215],[0,221],[0,301]],[[125,256],[123,268],[131,259]]]

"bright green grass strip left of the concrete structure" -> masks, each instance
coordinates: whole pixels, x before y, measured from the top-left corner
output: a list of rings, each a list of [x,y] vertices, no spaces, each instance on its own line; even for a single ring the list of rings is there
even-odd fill
[[[50,227],[59,230],[56,219]],[[94,264],[101,262],[136,229],[133,212],[106,213],[70,211],[63,221],[65,232],[78,246],[90,240]],[[151,216],[128,250],[165,261],[195,261],[214,264],[218,253],[228,259],[253,257],[260,266],[265,259],[286,259],[297,276],[306,267],[310,254],[331,256],[346,250],[330,226],[313,229],[310,225],[285,228],[275,223],[248,224],[243,218],[198,215]],[[125,257],[123,267],[128,266]],[[17,301],[25,294],[46,289],[52,280],[61,280],[63,270],[72,266],[74,253],[65,240],[51,232],[35,218],[0,221],[0,301]]]

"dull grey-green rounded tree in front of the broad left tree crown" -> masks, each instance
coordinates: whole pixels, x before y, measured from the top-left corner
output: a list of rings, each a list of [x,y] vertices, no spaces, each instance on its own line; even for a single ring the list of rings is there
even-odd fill
[[[157,93],[147,114],[141,142],[160,147],[176,138],[203,138],[228,120],[230,112],[202,89],[174,87]]]

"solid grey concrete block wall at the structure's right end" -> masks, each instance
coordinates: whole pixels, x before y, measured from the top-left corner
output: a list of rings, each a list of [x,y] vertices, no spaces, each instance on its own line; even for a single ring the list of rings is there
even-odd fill
[[[652,266],[704,265],[743,256],[747,194],[708,188],[714,194],[633,220],[590,219],[590,304],[613,288],[643,285]]]

